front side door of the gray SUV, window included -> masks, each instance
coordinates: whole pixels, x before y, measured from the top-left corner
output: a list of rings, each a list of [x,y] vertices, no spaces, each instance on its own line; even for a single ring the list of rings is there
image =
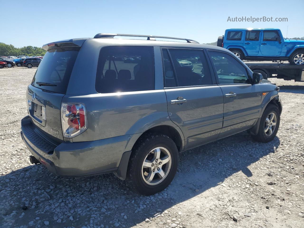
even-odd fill
[[[216,81],[224,96],[224,121],[219,138],[251,128],[260,116],[261,89],[251,84],[247,70],[233,55],[208,50]]]

